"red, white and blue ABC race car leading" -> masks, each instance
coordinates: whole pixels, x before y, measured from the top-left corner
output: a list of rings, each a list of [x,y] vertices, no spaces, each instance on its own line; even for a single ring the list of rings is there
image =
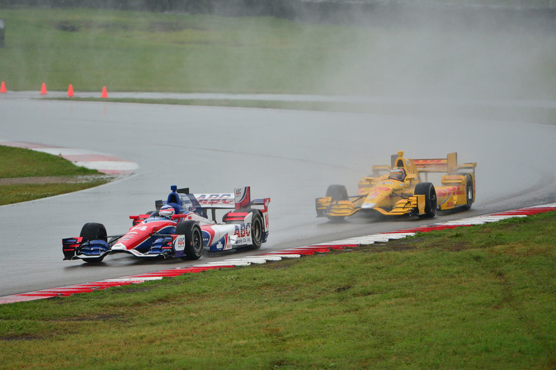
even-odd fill
[[[62,239],[64,260],[101,262],[110,253],[197,260],[204,249],[258,249],[266,242],[270,198],[251,201],[250,187],[216,194],[190,194],[176,185],[171,190],[166,201],[155,202],[155,211],[129,216],[133,226],[125,234],[108,235],[94,222],[83,225],[79,237]],[[218,209],[229,210],[222,223],[215,221]]]

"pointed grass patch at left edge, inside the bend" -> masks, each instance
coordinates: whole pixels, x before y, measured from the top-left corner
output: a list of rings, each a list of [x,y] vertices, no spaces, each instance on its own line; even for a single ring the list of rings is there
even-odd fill
[[[30,149],[0,146],[0,180],[3,178],[38,178],[54,176],[58,183],[2,184],[0,205],[32,201],[68,192],[76,192],[107,183],[110,177],[95,169],[78,167],[61,156]],[[63,180],[74,178],[74,183]]]

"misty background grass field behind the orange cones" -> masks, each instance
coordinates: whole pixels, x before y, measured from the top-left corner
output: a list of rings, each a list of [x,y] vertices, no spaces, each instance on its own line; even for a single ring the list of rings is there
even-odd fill
[[[44,82],[76,92],[556,98],[556,37],[534,27],[439,31],[88,9],[0,17],[8,90]]]

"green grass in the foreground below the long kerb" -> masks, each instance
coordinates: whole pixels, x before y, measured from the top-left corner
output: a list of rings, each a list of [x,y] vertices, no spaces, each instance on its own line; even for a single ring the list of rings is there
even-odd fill
[[[555,222],[1,305],[0,367],[553,368]]]

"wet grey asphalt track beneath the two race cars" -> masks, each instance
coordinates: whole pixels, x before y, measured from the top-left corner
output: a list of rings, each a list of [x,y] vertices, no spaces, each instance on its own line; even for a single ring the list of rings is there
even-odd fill
[[[466,119],[415,119],[330,112],[0,99],[0,140],[109,153],[137,162],[136,174],[83,192],[0,207],[0,296],[117,278],[208,260],[138,260],[113,255],[98,265],[63,261],[61,238],[85,222],[123,233],[129,215],[154,208],[171,184],[192,192],[250,185],[270,196],[270,236],[260,251],[432,224],[556,201],[556,127]],[[370,165],[457,151],[477,162],[477,199],[467,212],[436,219],[375,222],[316,219],[327,185],[348,192]],[[243,255],[260,253],[243,251]]]

